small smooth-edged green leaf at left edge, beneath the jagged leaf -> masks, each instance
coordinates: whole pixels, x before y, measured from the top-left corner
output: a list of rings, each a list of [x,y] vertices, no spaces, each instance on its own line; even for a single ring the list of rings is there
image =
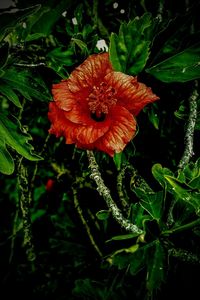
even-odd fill
[[[14,161],[8,150],[5,141],[0,136],[0,172],[10,175],[14,172]]]

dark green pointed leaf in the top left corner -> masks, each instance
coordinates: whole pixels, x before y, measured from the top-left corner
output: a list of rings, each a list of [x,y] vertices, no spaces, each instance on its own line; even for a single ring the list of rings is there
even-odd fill
[[[2,13],[0,18],[0,42],[19,22],[23,21],[31,14],[36,13],[40,7],[40,4],[38,4],[25,9],[18,9],[17,11]]]

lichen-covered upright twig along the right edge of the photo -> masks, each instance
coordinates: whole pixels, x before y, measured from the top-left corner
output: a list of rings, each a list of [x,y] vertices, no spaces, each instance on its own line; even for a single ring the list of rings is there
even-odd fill
[[[197,98],[199,96],[197,92],[198,82],[195,81],[195,88],[189,97],[189,118],[188,118],[188,124],[186,128],[185,133],[185,150],[183,152],[183,156],[179,162],[178,167],[180,169],[183,169],[187,163],[189,162],[190,158],[193,156],[193,142],[194,142],[194,129],[197,119]]]

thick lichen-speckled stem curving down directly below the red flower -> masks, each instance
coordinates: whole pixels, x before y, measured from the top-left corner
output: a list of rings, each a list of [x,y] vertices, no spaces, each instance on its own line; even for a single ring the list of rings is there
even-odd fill
[[[97,191],[99,192],[100,195],[103,196],[104,200],[106,201],[106,204],[107,204],[108,208],[110,209],[113,218],[125,230],[136,233],[136,234],[143,233],[143,231],[141,229],[139,229],[136,225],[132,224],[129,220],[127,220],[123,217],[120,209],[117,207],[117,205],[113,201],[111,194],[110,194],[110,190],[106,187],[106,185],[104,184],[104,181],[101,177],[101,173],[99,172],[98,164],[95,160],[93,152],[87,150],[87,156],[88,156],[88,160],[89,160],[89,168],[91,171],[91,178],[96,182]]]

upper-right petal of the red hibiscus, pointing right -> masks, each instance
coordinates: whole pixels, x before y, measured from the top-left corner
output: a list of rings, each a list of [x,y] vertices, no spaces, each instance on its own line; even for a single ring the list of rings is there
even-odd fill
[[[151,88],[137,81],[137,77],[111,72],[105,81],[116,91],[117,104],[126,107],[136,116],[145,105],[159,99]]]

